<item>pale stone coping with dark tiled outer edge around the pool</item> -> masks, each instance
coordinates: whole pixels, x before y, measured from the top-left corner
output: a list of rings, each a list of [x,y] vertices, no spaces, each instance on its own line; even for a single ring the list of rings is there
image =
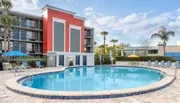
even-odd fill
[[[113,66],[120,66],[120,65],[113,65]],[[77,67],[77,66],[74,66]],[[139,67],[139,66],[138,66]],[[145,66],[140,66],[145,67]],[[67,67],[63,67],[59,70],[48,70],[43,72],[36,72],[37,74],[44,74],[44,73],[53,73],[53,72],[60,72],[65,70]],[[40,90],[25,87],[18,83],[19,79],[25,78],[27,76],[20,76],[9,79],[6,82],[6,87],[14,91],[16,93],[32,96],[32,97],[39,97],[39,98],[49,98],[49,99],[101,99],[101,98],[116,98],[116,97],[126,97],[126,96],[133,96],[139,94],[150,93],[153,91],[160,90],[168,85],[170,85],[174,80],[174,76],[168,75],[166,71],[160,70],[159,68],[154,67],[146,67],[149,69],[158,70],[161,73],[165,73],[163,79],[158,82],[152,83],[147,86],[141,86],[138,88],[132,89],[121,89],[121,90],[105,90],[105,91],[49,91],[49,90]]]

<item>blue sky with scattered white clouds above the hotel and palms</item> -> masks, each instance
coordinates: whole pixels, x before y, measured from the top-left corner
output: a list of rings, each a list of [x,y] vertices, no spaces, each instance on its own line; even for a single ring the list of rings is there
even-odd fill
[[[101,31],[108,31],[107,44],[111,39],[118,43],[138,46],[138,41],[150,38],[160,26],[175,31],[168,45],[180,44],[180,0],[12,0],[13,9],[42,15],[41,8],[56,6],[76,12],[86,18],[85,25],[95,28],[95,41],[103,44]],[[151,40],[151,45],[161,42]]]

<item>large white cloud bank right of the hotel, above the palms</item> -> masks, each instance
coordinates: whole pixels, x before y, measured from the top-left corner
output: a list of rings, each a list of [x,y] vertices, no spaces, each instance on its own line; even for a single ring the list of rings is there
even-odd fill
[[[174,30],[176,32],[176,38],[172,38],[169,44],[176,44],[174,42],[178,40],[177,34],[180,33],[180,9],[172,12],[165,12],[157,14],[155,10],[150,10],[144,13],[132,13],[123,18],[113,15],[104,15],[96,12],[92,7],[84,10],[89,20],[86,21],[87,26],[95,28],[95,40],[102,43],[100,35],[102,30],[107,30],[109,35],[107,37],[107,43],[110,39],[116,37],[120,41],[135,43],[140,37],[150,38],[151,34],[157,32],[160,26],[165,26],[167,30]],[[155,40],[152,44],[157,44],[159,40]]]

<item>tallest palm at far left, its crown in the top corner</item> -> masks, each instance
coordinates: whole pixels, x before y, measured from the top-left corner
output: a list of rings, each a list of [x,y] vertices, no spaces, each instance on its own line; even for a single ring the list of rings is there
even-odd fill
[[[1,21],[4,19],[5,16],[8,15],[9,9],[12,8],[11,0],[0,0],[0,9],[2,10],[2,14],[4,16],[1,16]],[[4,51],[6,52],[6,39],[7,39],[7,25],[4,24]]]

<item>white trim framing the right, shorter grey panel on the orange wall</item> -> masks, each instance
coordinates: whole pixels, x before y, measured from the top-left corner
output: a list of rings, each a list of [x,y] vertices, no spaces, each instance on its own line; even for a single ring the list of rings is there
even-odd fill
[[[71,52],[71,28],[73,29],[77,29],[77,30],[80,30],[80,51],[81,52],[81,27],[80,26],[76,26],[76,25],[70,25],[69,26],[69,52]]]

